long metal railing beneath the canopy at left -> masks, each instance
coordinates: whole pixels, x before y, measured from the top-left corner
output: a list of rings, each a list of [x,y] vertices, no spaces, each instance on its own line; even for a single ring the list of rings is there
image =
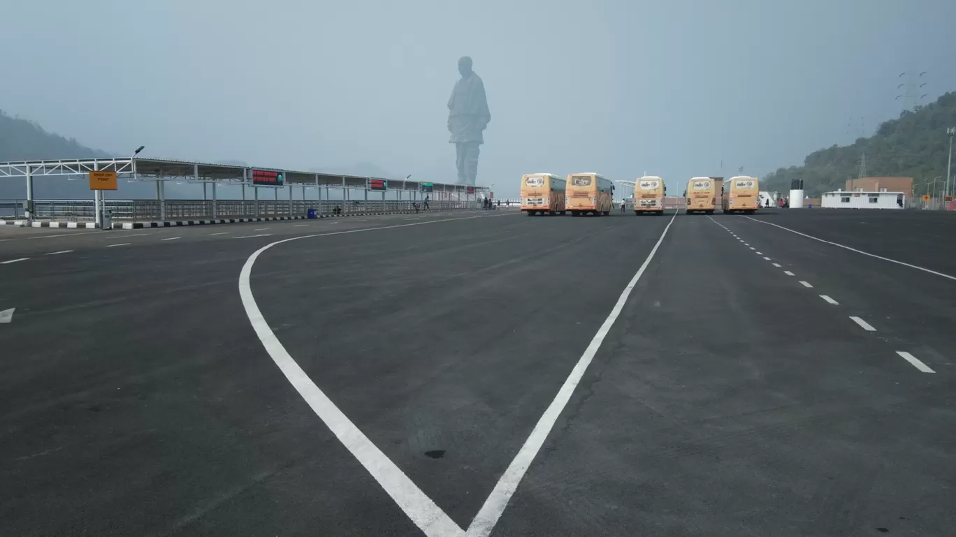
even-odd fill
[[[106,209],[114,220],[149,222],[160,220],[203,220],[212,218],[261,218],[306,216],[310,208],[319,214],[350,215],[361,213],[415,212],[413,203],[424,209],[422,201],[302,201],[302,200],[107,200]],[[430,210],[467,210],[480,207],[477,202],[430,201]],[[33,218],[65,222],[95,220],[91,200],[34,200]],[[164,217],[164,218],[163,218]],[[22,200],[0,200],[0,218],[26,218]]]

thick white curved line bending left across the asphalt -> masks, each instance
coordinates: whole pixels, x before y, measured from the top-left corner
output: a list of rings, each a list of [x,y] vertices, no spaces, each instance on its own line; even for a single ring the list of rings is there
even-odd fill
[[[252,273],[252,266],[255,264],[255,260],[258,259],[262,252],[276,245],[281,245],[290,241],[298,241],[301,239],[310,239],[314,237],[328,237],[331,235],[345,235],[349,233],[365,233],[380,229],[428,226],[442,222],[473,220],[476,218],[493,217],[470,216],[449,218],[445,220],[416,222],[413,224],[365,227],[361,229],[347,229],[345,231],[332,231],[329,233],[291,237],[289,239],[275,241],[274,243],[260,247],[252,252],[252,255],[249,256],[249,259],[246,260],[246,264],[243,265],[242,270],[239,272],[239,296],[242,298],[243,308],[246,310],[246,316],[249,317],[252,329],[259,337],[259,341],[262,342],[262,346],[266,349],[266,352],[270,355],[272,361],[275,362],[275,365],[278,366],[283,375],[289,379],[289,382],[293,385],[295,391],[297,391],[299,395],[305,399],[306,403],[309,404],[309,406],[315,412],[315,415],[318,416],[319,419],[322,419],[326,426],[329,427],[329,430],[331,430],[333,434],[336,435],[337,439],[342,442],[342,445],[344,445],[352,453],[356,460],[365,467],[368,473],[377,482],[379,482],[382,489],[384,489],[385,492],[392,497],[392,500],[394,500],[395,503],[402,508],[402,511],[404,511],[408,518],[411,519],[416,526],[419,526],[428,537],[444,537],[446,535],[464,537],[465,531],[455,524],[455,522],[445,514],[445,511],[443,511],[441,507],[435,505],[430,498],[425,496],[424,492],[422,492],[422,489],[408,479],[408,476],[402,472],[402,469],[399,468],[395,462],[392,462],[390,459],[388,459],[388,457],[381,452],[378,446],[376,446],[372,440],[369,440],[368,437],[366,437],[359,430],[359,427],[357,427],[352,420],[348,419],[348,417],[346,417],[342,411],[338,409],[336,404],[332,402],[332,399],[327,397],[322,390],[315,385],[315,382],[313,382],[312,378],[306,375],[302,368],[295,363],[292,355],[286,351],[286,348],[283,347],[282,342],[280,342],[275,334],[272,333],[272,329],[269,328],[269,323],[267,323],[265,317],[262,316],[262,311],[259,311],[259,306],[255,303],[255,297],[252,296],[250,275]],[[673,219],[671,222],[673,222]]]

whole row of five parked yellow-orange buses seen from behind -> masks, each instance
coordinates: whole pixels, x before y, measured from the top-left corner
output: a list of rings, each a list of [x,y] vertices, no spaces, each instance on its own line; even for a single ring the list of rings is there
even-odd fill
[[[615,185],[596,173],[575,173],[561,178],[550,173],[527,174],[521,178],[521,210],[536,214],[572,216],[611,214]],[[644,176],[634,183],[634,214],[662,215],[667,187],[657,176]],[[754,212],[760,208],[760,182],[755,177],[695,177],[684,192],[687,213],[713,214],[720,207],[726,213]],[[718,202],[719,200],[719,202]]]

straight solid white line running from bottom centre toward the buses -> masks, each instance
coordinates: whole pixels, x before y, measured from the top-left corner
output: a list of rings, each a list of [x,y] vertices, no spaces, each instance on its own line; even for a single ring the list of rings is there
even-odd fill
[[[577,383],[580,382],[581,377],[584,376],[584,371],[588,368],[591,360],[594,359],[595,354],[597,354],[597,349],[600,347],[601,342],[604,341],[604,337],[611,330],[611,327],[614,326],[614,322],[618,319],[620,311],[624,308],[624,303],[627,302],[627,297],[631,294],[631,290],[634,290],[634,286],[638,284],[638,280],[641,279],[644,270],[650,265],[654,254],[657,253],[658,248],[661,247],[663,243],[664,236],[667,235],[667,229],[674,223],[676,217],[677,211],[674,211],[674,216],[671,217],[667,226],[663,228],[661,238],[658,239],[657,244],[651,248],[650,253],[647,254],[647,259],[644,259],[641,268],[638,269],[634,277],[631,278],[627,287],[621,291],[618,303],[614,305],[611,313],[608,314],[607,319],[604,320],[604,324],[601,325],[591,340],[591,344],[588,345],[588,348],[584,351],[584,354],[581,354],[575,368],[571,370],[571,375],[569,375],[564,381],[564,384],[561,385],[557,395],[554,396],[554,400],[548,406],[548,410],[544,412],[541,419],[538,419],[537,424],[534,425],[532,434],[528,437],[528,440],[525,440],[524,445],[521,446],[518,454],[514,457],[514,461],[511,461],[511,464],[509,464],[508,469],[505,470],[501,479],[494,485],[494,489],[491,491],[488,500],[482,505],[481,510],[478,511],[475,518],[472,519],[471,525],[468,526],[467,537],[487,537],[491,529],[498,522],[505,507],[511,500],[511,495],[514,494],[515,489],[517,489],[518,483],[521,482],[528,467],[531,466],[534,457],[541,449],[541,445],[548,438],[548,434],[551,432],[552,427],[554,427],[554,422],[558,416],[560,416],[561,411],[564,410],[565,405],[568,404],[568,400],[571,399],[572,394],[574,394]]]

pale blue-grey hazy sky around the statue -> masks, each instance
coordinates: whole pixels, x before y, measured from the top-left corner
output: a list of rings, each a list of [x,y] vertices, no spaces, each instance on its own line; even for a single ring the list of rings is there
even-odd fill
[[[148,157],[453,182],[470,55],[499,197],[541,171],[763,175],[896,117],[902,72],[956,90],[953,0],[0,2],[0,108]]]

